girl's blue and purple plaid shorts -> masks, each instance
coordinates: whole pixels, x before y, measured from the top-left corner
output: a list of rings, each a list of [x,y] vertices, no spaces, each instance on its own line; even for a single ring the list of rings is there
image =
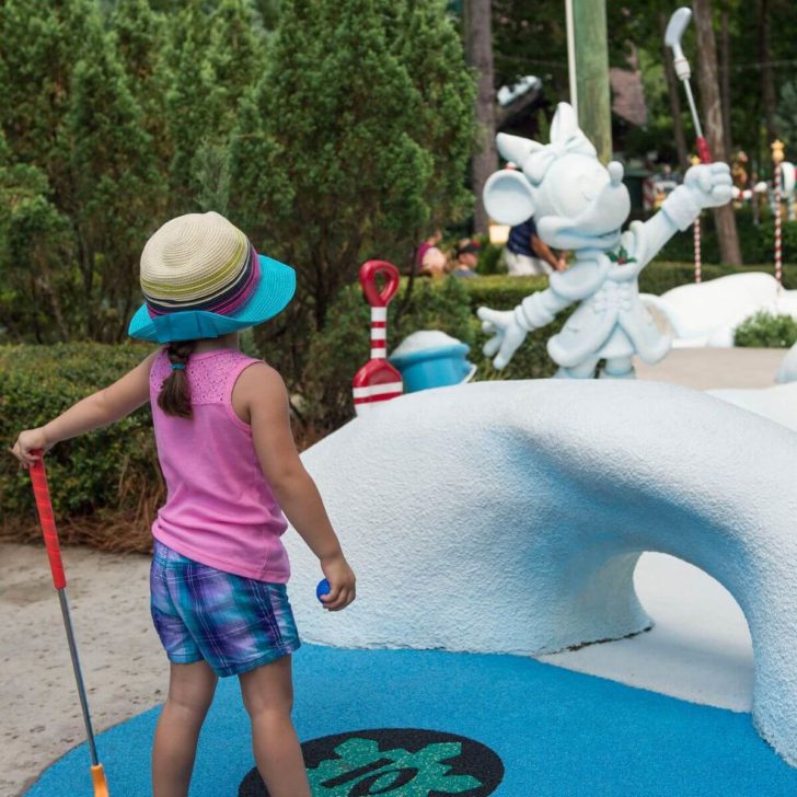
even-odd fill
[[[257,581],[182,556],[155,540],[152,620],[169,660],[207,661],[240,675],[300,645],[284,584]]]

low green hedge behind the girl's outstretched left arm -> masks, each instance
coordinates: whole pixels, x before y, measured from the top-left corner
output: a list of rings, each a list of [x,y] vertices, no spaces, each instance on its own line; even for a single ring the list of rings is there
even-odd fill
[[[21,430],[47,423],[118,379],[149,350],[137,344],[0,347],[0,438],[4,448],[14,443]],[[148,533],[162,496],[149,406],[105,429],[58,443],[47,454],[47,472],[59,524],[67,518],[99,512],[95,518],[124,516]],[[0,458],[0,506],[5,529],[35,523],[28,475],[8,453]],[[117,550],[125,547],[120,540]]]

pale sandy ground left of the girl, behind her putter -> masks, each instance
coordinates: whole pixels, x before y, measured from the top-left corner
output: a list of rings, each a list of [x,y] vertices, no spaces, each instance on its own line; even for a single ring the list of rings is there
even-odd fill
[[[149,559],[65,548],[63,564],[97,732],[159,703],[166,688],[149,616]],[[2,797],[21,794],[85,738],[44,547],[0,545],[0,717]]]

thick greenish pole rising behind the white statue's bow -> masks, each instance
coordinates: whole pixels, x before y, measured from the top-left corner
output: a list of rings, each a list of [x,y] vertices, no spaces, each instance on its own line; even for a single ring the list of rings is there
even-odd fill
[[[605,0],[573,2],[578,124],[603,163],[612,159]]]

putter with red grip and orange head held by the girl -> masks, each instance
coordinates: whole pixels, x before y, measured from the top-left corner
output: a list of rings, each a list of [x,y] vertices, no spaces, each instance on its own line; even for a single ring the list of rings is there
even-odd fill
[[[53,584],[58,592],[58,600],[61,604],[63,627],[67,632],[67,643],[69,644],[69,655],[72,658],[74,680],[78,684],[80,707],[83,711],[83,721],[85,723],[85,735],[89,742],[89,754],[91,756],[91,779],[94,785],[94,797],[108,797],[108,786],[105,781],[105,772],[96,753],[94,731],[91,727],[91,716],[89,715],[89,702],[85,697],[85,686],[83,685],[83,673],[80,669],[78,647],[74,643],[74,631],[72,629],[72,619],[69,614],[69,603],[67,601],[67,576],[63,573],[61,550],[58,544],[58,531],[56,529],[55,518],[53,517],[53,503],[50,501],[49,487],[47,486],[47,473],[44,469],[44,452],[35,451],[34,453],[38,457],[38,460],[36,460],[35,464],[31,466],[31,482],[33,483],[33,494],[36,498],[38,519],[42,523],[44,544],[47,548],[47,557],[49,558]]]

